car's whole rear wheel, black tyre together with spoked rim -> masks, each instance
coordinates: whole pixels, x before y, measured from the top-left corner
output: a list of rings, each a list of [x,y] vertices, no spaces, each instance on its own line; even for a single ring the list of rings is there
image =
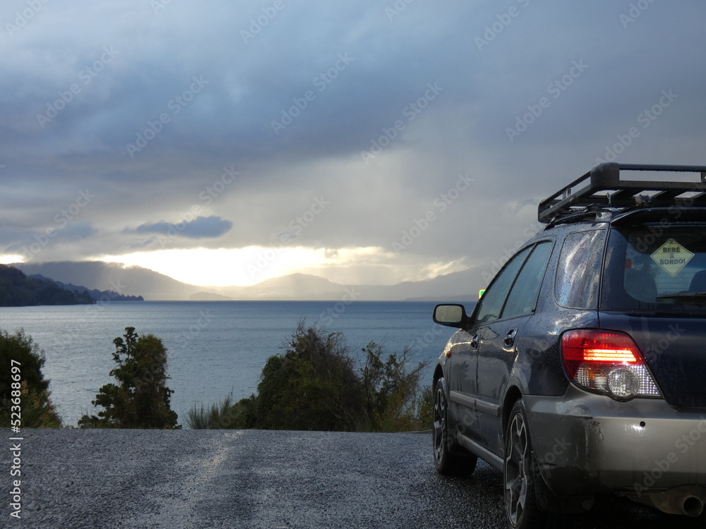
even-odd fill
[[[555,513],[539,510],[537,491],[544,487],[539,475],[534,473],[534,452],[527,422],[527,412],[522,399],[515,402],[505,430],[505,464],[503,488],[505,490],[505,517],[510,529],[546,528],[555,525]],[[544,489],[542,489],[544,490]]]

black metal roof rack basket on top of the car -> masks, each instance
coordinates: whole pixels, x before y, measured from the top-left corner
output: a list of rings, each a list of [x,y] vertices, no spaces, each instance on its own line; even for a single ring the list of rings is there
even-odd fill
[[[621,171],[700,173],[700,182],[621,180]],[[607,192],[607,193],[606,193]],[[649,192],[657,192],[649,195]],[[683,193],[697,195],[681,197]],[[706,207],[706,166],[604,163],[539,202],[537,218],[557,224],[585,218],[601,208]]]

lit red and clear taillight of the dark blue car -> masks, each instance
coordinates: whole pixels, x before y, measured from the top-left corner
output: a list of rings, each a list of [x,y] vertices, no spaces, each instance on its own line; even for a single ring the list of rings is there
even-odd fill
[[[571,381],[617,401],[661,397],[640,349],[628,334],[577,329],[561,336],[561,358]]]

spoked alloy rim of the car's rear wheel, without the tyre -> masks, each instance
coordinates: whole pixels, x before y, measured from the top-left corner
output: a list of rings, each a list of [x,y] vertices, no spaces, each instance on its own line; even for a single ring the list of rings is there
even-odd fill
[[[527,501],[527,462],[529,442],[522,415],[517,413],[510,423],[508,454],[505,456],[505,506],[513,525],[517,525]]]

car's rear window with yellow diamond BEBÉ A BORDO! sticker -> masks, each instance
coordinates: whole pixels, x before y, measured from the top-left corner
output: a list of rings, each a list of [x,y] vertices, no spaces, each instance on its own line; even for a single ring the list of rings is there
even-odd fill
[[[612,229],[601,307],[706,314],[706,226]]]

